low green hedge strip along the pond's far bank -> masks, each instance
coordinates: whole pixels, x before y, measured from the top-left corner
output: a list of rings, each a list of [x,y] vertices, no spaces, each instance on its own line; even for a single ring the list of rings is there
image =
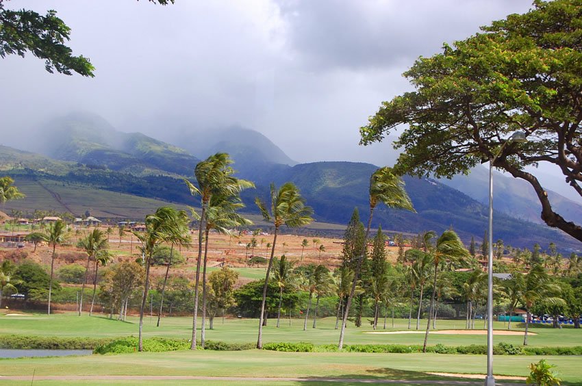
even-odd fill
[[[107,344],[111,340],[111,338],[1,335],[0,348],[18,350],[94,350],[97,346]]]

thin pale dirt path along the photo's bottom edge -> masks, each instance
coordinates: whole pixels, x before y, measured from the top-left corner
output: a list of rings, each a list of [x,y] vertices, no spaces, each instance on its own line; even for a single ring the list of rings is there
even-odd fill
[[[310,378],[310,377],[243,377],[243,376],[172,376],[172,375],[41,375],[0,376],[0,381],[225,381],[225,382],[330,382],[330,383],[382,383],[392,385],[483,385],[479,381],[428,381],[378,378]],[[498,383],[498,386],[518,386],[520,383]]]

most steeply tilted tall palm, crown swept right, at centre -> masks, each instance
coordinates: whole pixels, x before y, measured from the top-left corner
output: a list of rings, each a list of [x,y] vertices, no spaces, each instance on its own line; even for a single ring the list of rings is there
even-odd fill
[[[370,227],[372,226],[372,216],[374,214],[374,209],[378,203],[384,203],[389,208],[393,209],[405,209],[409,211],[414,211],[412,206],[412,201],[406,190],[404,188],[404,181],[398,175],[394,174],[392,168],[385,166],[379,168],[372,173],[370,177],[370,187],[369,187],[369,199],[370,199],[370,216],[368,217],[368,227],[366,228],[366,236],[364,240],[368,240],[368,235],[370,234]],[[344,310],[344,317],[342,320],[342,329],[340,330],[340,343],[338,348],[340,350],[344,346],[344,333],[346,331],[346,323],[348,321],[348,314],[350,311],[353,296],[355,294],[355,288],[357,286],[357,281],[359,280],[360,270],[362,270],[362,261],[364,261],[364,255],[366,254],[366,242],[364,242],[364,248],[358,256],[354,280],[352,283],[350,294],[346,300],[346,308]]]

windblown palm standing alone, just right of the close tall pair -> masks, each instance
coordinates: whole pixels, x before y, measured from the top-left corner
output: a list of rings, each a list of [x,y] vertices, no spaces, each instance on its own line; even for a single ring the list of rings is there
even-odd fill
[[[267,221],[273,221],[273,224],[275,225],[273,247],[271,248],[269,263],[265,275],[265,283],[263,286],[257,348],[263,347],[263,318],[265,313],[267,286],[270,268],[273,266],[273,256],[275,255],[275,246],[277,246],[277,234],[279,233],[279,228],[283,224],[291,228],[303,227],[313,220],[313,209],[305,206],[305,198],[301,196],[299,189],[293,183],[283,183],[279,189],[275,188],[274,183],[271,183],[270,199],[271,203],[269,213],[266,205],[259,198],[255,198],[255,203],[257,204],[257,207],[259,207],[263,218]]]

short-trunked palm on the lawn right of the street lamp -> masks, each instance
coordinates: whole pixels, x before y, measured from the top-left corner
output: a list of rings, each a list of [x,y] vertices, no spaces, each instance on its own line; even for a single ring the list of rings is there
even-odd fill
[[[537,263],[531,266],[525,276],[524,287],[521,293],[521,303],[525,307],[525,331],[523,336],[523,345],[527,346],[527,332],[529,329],[529,320],[531,318],[531,309],[535,303],[544,300],[547,305],[565,305],[564,299],[555,296],[559,294],[559,285],[552,283],[551,276],[544,270],[542,264]]]

